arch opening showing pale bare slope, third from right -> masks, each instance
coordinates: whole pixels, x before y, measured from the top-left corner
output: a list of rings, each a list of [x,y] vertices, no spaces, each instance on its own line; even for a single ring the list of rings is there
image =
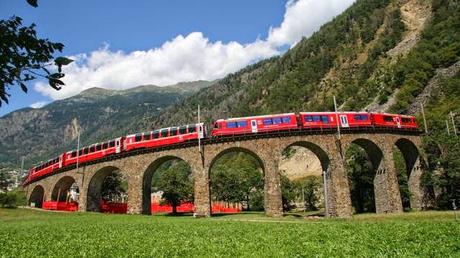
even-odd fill
[[[284,211],[325,211],[324,177],[329,157],[318,145],[296,142],[286,147],[279,163]]]

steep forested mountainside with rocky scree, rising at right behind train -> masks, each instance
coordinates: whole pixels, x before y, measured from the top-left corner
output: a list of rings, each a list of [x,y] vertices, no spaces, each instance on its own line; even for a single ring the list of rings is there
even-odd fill
[[[459,70],[459,28],[458,1],[358,0],[284,55],[226,76],[139,129],[194,121],[198,104],[207,121],[333,110],[333,95],[341,110],[408,113],[430,98],[424,89],[440,69]]]

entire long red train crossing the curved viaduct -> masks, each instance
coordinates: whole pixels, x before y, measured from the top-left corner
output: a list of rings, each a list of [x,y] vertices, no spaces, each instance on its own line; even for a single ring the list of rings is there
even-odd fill
[[[301,112],[219,119],[213,123],[211,137],[280,132],[289,130],[322,130],[341,128],[380,128],[417,130],[414,116],[367,112]],[[122,152],[164,147],[195,141],[206,137],[203,123],[157,129],[150,132],[130,134],[107,142],[92,144],[80,150],[61,154],[29,170],[24,184],[52,174],[57,169],[77,163],[84,164]]]

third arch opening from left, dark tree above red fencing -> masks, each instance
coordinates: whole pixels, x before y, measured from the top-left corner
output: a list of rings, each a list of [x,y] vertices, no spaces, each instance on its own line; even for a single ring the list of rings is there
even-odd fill
[[[102,168],[91,178],[87,196],[87,211],[127,213],[128,180],[117,167]]]

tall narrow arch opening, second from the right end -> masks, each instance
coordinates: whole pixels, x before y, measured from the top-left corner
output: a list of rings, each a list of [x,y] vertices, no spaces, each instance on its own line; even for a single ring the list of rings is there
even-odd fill
[[[385,196],[383,152],[370,140],[356,139],[346,150],[345,160],[354,213],[376,212]]]

